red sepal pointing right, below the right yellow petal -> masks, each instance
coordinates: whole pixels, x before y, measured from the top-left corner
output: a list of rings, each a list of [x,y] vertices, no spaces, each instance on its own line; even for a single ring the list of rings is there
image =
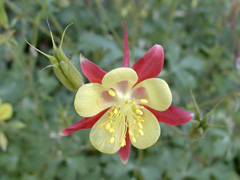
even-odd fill
[[[169,125],[183,125],[193,118],[191,113],[177,106],[170,106],[166,111],[156,111],[149,107],[146,108],[156,116],[159,122]]]

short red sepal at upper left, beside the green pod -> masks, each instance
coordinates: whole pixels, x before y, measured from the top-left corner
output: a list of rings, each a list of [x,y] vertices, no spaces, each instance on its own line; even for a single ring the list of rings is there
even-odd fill
[[[83,74],[88,78],[91,83],[102,83],[102,78],[106,74],[100,67],[98,67],[93,62],[81,57],[81,68]]]

